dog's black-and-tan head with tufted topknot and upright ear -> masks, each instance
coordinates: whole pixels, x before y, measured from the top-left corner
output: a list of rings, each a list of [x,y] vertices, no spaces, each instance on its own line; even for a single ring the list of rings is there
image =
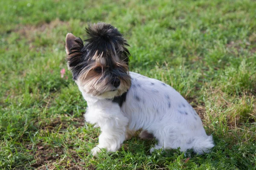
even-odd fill
[[[87,39],[68,33],[67,65],[79,89],[91,96],[112,99],[131,86],[127,41],[110,24],[89,24]]]

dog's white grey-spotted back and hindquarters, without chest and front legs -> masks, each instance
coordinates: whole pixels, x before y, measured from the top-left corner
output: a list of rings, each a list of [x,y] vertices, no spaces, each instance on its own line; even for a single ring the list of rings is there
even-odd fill
[[[131,88],[122,111],[130,130],[142,128],[159,141],[155,149],[194,149],[209,152],[214,144],[191,105],[174,88],[157,80],[130,72]],[[153,151],[153,150],[151,150]]]

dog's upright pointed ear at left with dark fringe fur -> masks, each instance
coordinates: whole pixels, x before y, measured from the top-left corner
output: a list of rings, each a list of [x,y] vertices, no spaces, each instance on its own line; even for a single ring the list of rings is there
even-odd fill
[[[75,37],[71,33],[67,33],[66,36],[66,53],[67,53],[67,63],[69,69],[73,70],[83,56],[81,50],[84,47],[84,43],[81,38]]]

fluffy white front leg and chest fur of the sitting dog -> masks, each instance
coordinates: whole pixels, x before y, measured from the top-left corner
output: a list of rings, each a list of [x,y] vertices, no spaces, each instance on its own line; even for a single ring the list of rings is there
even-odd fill
[[[109,152],[115,152],[127,138],[128,118],[126,118],[119,105],[108,102],[94,103],[97,107],[88,107],[84,117],[87,122],[96,124],[102,133],[99,136],[99,144],[92,149],[93,155],[106,148]]]

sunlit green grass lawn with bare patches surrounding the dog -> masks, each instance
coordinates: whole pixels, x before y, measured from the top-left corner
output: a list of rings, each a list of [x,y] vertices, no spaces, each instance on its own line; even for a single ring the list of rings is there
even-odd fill
[[[253,0],[0,1],[0,169],[256,169],[256,2]],[[149,153],[135,136],[90,154],[100,130],[67,71],[67,32],[104,21],[131,47],[131,71],[172,85],[216,146],[204,156]],[[60,71],[66,69],[61,78]]]

